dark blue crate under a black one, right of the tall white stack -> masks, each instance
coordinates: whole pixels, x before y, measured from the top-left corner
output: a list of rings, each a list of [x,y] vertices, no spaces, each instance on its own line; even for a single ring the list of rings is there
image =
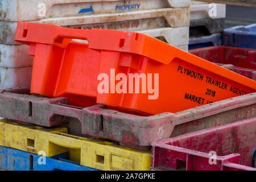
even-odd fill
[[[188,49],[203,48],[209,46],[220,46],[222,43],[221,34],[212,34],[206,36],[189,38]]]

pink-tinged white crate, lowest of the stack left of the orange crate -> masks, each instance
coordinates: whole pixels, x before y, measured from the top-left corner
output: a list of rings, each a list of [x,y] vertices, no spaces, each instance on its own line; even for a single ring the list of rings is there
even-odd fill
[[[32,67],[3,68],[0,67],[0,89],[26,86],[30,88]]]

